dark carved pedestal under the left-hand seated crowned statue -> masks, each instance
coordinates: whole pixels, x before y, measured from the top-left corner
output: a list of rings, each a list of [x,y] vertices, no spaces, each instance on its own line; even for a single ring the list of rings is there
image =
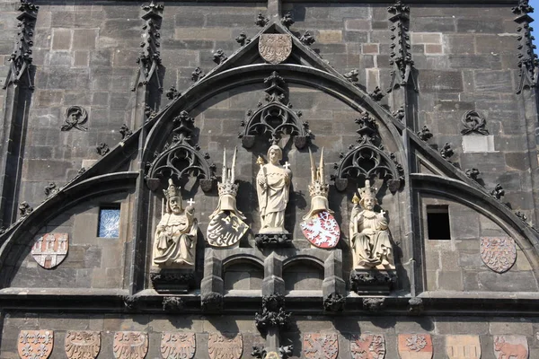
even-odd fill
[[[157,293],[183,294],[194,287],[195,270],[152,267],[150,279]]]

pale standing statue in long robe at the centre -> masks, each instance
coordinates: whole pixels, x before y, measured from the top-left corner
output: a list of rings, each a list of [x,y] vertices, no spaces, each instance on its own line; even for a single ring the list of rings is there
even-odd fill
[[[288,233],[285,229],[285,210],[290,194],[292,171],[281,166],[279,161],[283,152],[277,144],[268,150],[269,163],[263,164],[259,157],[261,170],[256,176],[256,189],[261,212],[260,233]]]

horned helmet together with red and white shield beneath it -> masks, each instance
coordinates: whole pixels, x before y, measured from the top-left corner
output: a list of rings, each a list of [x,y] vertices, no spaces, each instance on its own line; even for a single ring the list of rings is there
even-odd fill
[[[332,215],[333,211],[329,208],[328,193],[330,185],[325,179],[323,149],[318,168],[314,164],[311,149],[309,149],[309,155],[311,158],[311,184],[309,185],[311,208],[309,213],[303,217],[304,221],[299,226],[305,238],[314,247],[335,248],[340,239],[340,227]]]

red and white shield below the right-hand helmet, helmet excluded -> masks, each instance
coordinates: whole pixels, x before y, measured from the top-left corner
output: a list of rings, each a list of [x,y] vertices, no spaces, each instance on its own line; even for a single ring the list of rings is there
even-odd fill
[[[328,211],[319,212],[299,224],[305,238],[315,247],[331,249],[337,246],[340,238],[339,223]]]

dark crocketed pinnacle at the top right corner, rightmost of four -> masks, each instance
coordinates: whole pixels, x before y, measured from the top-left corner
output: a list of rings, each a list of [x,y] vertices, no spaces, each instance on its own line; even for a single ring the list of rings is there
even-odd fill
[[[537,85],[537,66],[539,61],[535,55],[535,45],[533,44],[534,37],[532,36],[532,27],[530,23],[534,19],[528,15],[533,13],[534,8],[528,4],[528,0],[519,0],[517,6],[512,9],[513,13],[517,14],[515,22],[517,22],[517,40],[518,40],[518,68],[520,69],[518,76],[517,94],[521,93],[524,88],[535,87]]]

